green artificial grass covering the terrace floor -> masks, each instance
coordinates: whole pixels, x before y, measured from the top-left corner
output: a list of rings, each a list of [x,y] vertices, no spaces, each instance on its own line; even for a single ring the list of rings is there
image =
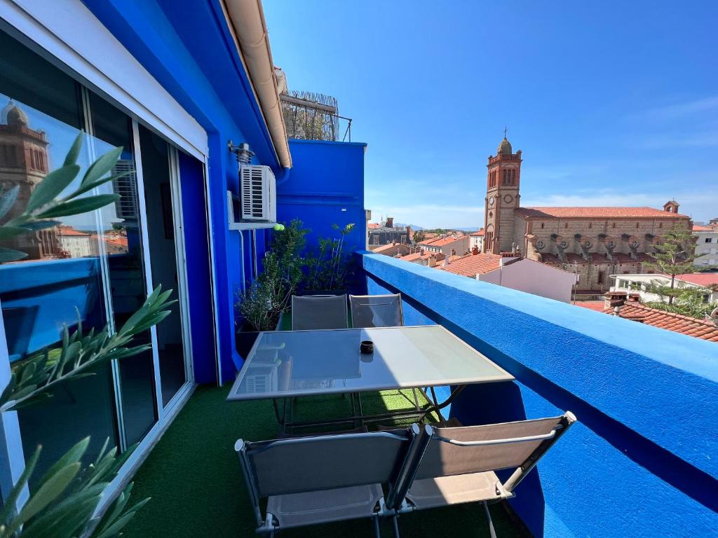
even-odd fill
[[[276,437],[279,425],[271,402],[227,402],[229,387],[198,387],[180,415],[136,473],[131,504],[151,497],[126,527],[126,538],[241,538],[259,536],[241,475],[234,443],[238,438]],[[411,407],[411,391],[363,395],[365,413]],[[297,400],[295,420],[346,416],[349,399],[341,395]],[[499,537],[528,536],[505,506],[490,507]],[[452,506],[399,518],[402,537],[488,537],[480,504]],[[381,524],[392,537],[389,520]],[[369,519],[289,529],[278,537],[373,537]]]

